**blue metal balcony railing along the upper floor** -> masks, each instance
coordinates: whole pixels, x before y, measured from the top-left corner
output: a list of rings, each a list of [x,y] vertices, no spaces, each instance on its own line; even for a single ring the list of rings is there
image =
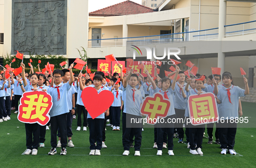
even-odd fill
[[[240,36],[256,32],[256,21],[227,25],[225,28],[225,37]],[[93,39],[88,40],[88,47],[113,47],[126,45],[151,45],[166,44],[185,41],[200,41],[218,38],[218,28],[199,30],[193,32],[180,32],[165,35],[128,37],[117,39]]]

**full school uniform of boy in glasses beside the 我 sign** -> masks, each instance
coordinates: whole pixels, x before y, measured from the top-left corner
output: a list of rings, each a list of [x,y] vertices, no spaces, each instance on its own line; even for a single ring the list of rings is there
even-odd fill
[[[59,128],[61,134],[62,148],[67,146],[67,114],[68,110],[68,90],[71,88],[69,82],[55,84],[50,87],[47,92],[52,96],[51,116],[51,145],[53,148],[57,146],[57,130]]]

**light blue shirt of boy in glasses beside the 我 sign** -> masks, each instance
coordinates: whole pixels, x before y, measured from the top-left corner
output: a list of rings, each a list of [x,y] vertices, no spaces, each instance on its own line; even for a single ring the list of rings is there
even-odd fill
[[[47,92],[52,96],[52,109],[50,111],[50,116],[58,116],[61,114],[69,113],[68,110],[68,90],[71,88],[71,85],[69,85],[69,82],[63,84],[59,84],[60,86],[59,93],[60,93],[60,99],[58,100],[58,91],[56,85],[54,84],[53,87],[50,87]]]

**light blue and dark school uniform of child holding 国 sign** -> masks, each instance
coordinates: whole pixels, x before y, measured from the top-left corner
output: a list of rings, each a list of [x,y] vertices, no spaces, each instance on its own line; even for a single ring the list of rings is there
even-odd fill
[[[205,93],[205,91],[201,90],[202,93]],[[193,94],[198,94],[198,90],[195,89],[189,89],[188,92],[186,91],[187,97],[184,98],[188,100],[188,97]],[[188,103],[186,104],[186,110],[185,110],[185,117],[189,118],[189,112],[188,112]],[[196,150],[198,148],[202,149],[202,142],[204,137],[204,125],[200,126],[193,126],[191,123],[188,123],[188,131],[189,131],[189,145],[191,150]],[[195,137],[196,136],[196,137]],[[195,142],[195,139],[197,142]],[[197,143],[197,147],[195,147],[195,143]]]

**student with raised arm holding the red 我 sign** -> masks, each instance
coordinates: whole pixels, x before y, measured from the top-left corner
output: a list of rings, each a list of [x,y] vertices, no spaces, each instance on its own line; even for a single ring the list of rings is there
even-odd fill
[[[39,75],[34,73],[32,69],[32,74],[30,78],[30,83],[27,83],[26,77],[25,77],[25,65],[23,63],[20,64],[22,67],[22,78],[23,83],[20,79],[18,79],[19,85],[21,87],[21,90],[23,92],[27,91],[33,91],[33,90],[39,90],[39,87],[37,86],[37,83],[39,81]],[[46,91],[46,90],[44,90]],[[32,152],[32,155],[37,155],[38,145],[39,145],[39,124],[38,123],[25,123],[25,129],[26,129],[26,146],[27,149],[25,151],[25,155],[29,155]]]

